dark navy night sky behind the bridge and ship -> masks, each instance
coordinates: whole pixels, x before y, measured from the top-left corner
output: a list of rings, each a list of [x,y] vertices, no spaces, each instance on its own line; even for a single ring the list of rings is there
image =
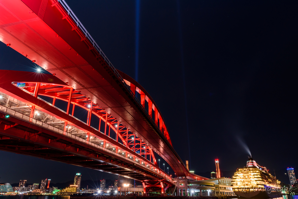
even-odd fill
[[[134,78],[135,1],[67,3],[113,65]],[[138,81],[191,170],[215,170],[216,157],[221,170],[243,167],[245,143],[270,172],[284,175],[287,167],[298,166],[297,6],[298,1],[141,1]],[[32,67],[0,44],[0,69]],[[0,159],[1,182],[107,175],[7,152]]]

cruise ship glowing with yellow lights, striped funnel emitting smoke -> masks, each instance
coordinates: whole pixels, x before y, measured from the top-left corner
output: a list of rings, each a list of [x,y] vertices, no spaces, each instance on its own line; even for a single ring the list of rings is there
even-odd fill
[[[244,168],[238,168],[232,177],[233,191],[239,198],[278,198],[280,181],[249,158]]]

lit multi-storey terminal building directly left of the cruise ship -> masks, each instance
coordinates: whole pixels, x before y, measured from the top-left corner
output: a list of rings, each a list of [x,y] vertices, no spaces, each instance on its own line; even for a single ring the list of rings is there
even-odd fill
[[[214,182],[215,187],[215,196],[230,196],[235,195],[232,190],[232,179],[221,177],[221,178],[212,178],[209,180],[204,180],[206,182]]]

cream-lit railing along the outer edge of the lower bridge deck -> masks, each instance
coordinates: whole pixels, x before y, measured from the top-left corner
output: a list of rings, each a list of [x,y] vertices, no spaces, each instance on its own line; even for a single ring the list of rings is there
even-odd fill
[[[72,139],[75,139],[75,140],[77,140],[77,141],[79,141],[79,142],[83,142],[83,143],[85,143],[85,144],[89,144],[89,145],[92,146],[92,147],[95,147],[95,148],[97,148],[97,149],[104,150],[104,151],[106,151],[106,152],[108,152],[108,153],[111,153],[111,154],[113,154],[113,155],[115,155],[115,156],[119,156],[119,157],[121,157],[121,158],[124,158],[124,159],[126,159],[126,160],[128,160],[128,161],[133,162],[134,164],[137,164],[137,165],[139,165],[139,166],[141,166],[141,167],[144,167],[144,168],[146,168],[146,169],[148,169],[148,170],[150,170],[150,171],[156,173],[157,175],[161,176],[161,177],[164,178],[165,180],[172,181],[172,179],[167,178],[167,175],[165,175],[165,174],[164,174],[164,175],[161,174],[162,172],[159,173],[159,172],[155,171],[155,168],[154,168],[154,169],[151,169],[150,167],[146,167],[145,165],[140,164],[139,162],[134,161],[134,160],[131,159],[131,158],[127,158],[127,157],[125,157],[125,156],[120,155],[119,153],[115,153],[113,150],[109,150],[109,149],[107,149],[107,148],[105,148],[105,147],[100,146],[99,144],[96,144],[96,143],[87,141],[87,140],[85,140],[85,139],[82,139],[82,138],[80,138],[80,137],[78,137],[78,136],[75,136],[75,135],[73,135],[73,134],[71,134],[71,133],[68,133],[68,132],[66,132],[66,131],[63,131],[63,130],[61,130],[61,129],[59,129],[59,128],[56,128],[56,127],[54,127],[54,126],[52,126],[52,125],[49,125],[49,124],[47,124],[47,123],[45,123],[45,122],[42,122],[42,121],[39,121],[39,120],[34,119],[34,118],[32,118],[32,117],[29,117],[29,116],[27,116],[27,115],[25,115],[25,114],[21,114],[21,113],[18,112],[18,111],[14,111],[14,110],[12,110],[12,109],[10,109],[10,108],[7,108],[7,107],[5,107],[5,106],[0,105],[0,112],[2,112],[2,113],[4,113],[4,114],[8,114],[9,116],[15,116],[15,117],[18,118],[18,119],[24,120],[24,121],[26,121],[26,122],[31,122],[31,123],[33,123],[33,124],[35,124],[35,125],[41,126],[42,128],[46,128],[46,129],[48,129],[48,130],[51,130],[51,131],[53,131],[54,133],[60,133],[60,134],[63,134],[64,136],[68,136],[68,137],[70,137],[70,138],[72,138]],[[174,183],[174,181],[172,181],[172,182]]]

